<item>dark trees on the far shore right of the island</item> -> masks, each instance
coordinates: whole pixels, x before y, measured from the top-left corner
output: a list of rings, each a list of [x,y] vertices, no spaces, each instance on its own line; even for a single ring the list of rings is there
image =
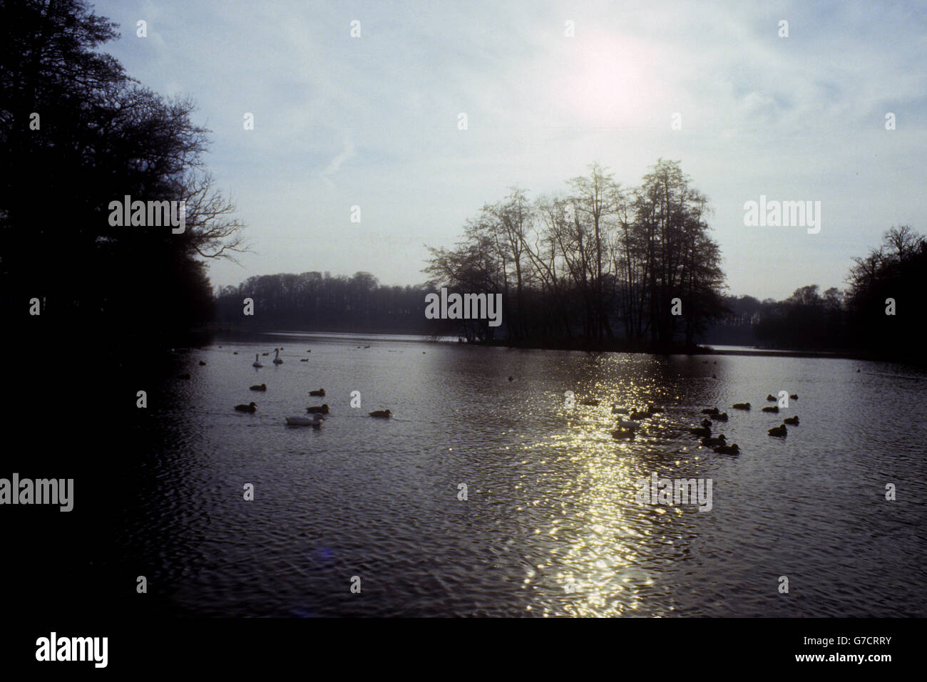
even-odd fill
[[[707,340],[919,360],[927,240],[908,225],[891,228],[880,246],[854,259],[846,282],[845,292],[830,288],[820,294],[810,284],[781,301],[725,297],[728,312]]]

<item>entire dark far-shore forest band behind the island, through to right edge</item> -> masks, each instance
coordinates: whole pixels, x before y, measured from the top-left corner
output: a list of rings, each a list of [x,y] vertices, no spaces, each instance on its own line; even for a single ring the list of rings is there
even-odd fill
[[[501,335],[486,321],[426,320],[425,295],[440,282],[415,286],[378,284],[369,272],[352,277],[332,277],[328,272],[276,274],[251,277],[239,286],[227,286],[216,298],[216,316],[210,329],[239,333],[259,331],[303,331],[359,334],[413,334],[460,337],[470,343],[571,350],[601,350],[646,353],[728,353],[712,345],[756,348],[756,354],[794,351],[808,357],[841,357],[869,360],[899,360],[922,364],[919,349],[919,316],[916,292],[923,287],[927,272],[927,242],[908,226],[892,228],[883,243],[863,258],[857,258],[847,282],[848,291],[831,288],[823,294],[816,284],[799,287],[781,301],[755,297],[718,297],[718,312],[705,324],[697,341],[685,343],[684,335],[669,342],[653,338],[598,338],[572,335],[508,335],[511,322],[511,290],[504,293]],[[610,286],[614,283],[610,283]],[[452,291],[467,292],[462,285]],[[255,314],[243,316],[245,298],[255,302]],[[908,314],[886,314],[886,299],[895,309]],[[258,303],[260,301],[260,304]],[[685,299],[682,299],[683,306]],[[523,310],[544,305],[540,292],[524,287]],[[517,308],[514,309],[517,314]],[[606,300],[603,311],[615,325],[616,308]],[[581,331],[581,307],[561,312]],[[526,313],[527,314],[527,313]],[[615,316],[615,317],[613,317]],[[521,321],[536,329],[529,318]]]

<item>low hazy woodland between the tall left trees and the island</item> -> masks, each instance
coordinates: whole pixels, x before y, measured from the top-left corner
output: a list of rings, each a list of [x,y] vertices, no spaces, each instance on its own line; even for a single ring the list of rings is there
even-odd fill
[[[434,335],[445,327],[425,320],[427,291],[425,285],[379,284],[369,272],[261,275],[222,288],[216,322],[234,329]],[[245,314],[246,298],[253,315]]]

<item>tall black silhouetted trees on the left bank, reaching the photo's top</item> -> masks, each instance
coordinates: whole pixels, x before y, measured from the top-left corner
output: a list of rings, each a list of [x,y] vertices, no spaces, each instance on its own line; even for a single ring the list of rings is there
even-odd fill
[[[44,335],[187,330],[212,314],[205,262],[244,249],[193,105],[97,51],[116,37],[82,0],[0,2],[0,291]],[[124,196],[185,201],[184,233],[110,225]]]

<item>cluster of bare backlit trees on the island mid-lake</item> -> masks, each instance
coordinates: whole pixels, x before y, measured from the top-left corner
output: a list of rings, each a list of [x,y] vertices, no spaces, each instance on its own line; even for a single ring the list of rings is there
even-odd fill
[[[521,189],[467,221],[453,248],[430,248],[432,287],[502,293],[510,343],[692,347],[724,314],[720,250],[707,198],[679,162],[660,159],[638,187],[598,164],[567,191],[531,201]],[[485,321],[461,321],[470,340]]]

